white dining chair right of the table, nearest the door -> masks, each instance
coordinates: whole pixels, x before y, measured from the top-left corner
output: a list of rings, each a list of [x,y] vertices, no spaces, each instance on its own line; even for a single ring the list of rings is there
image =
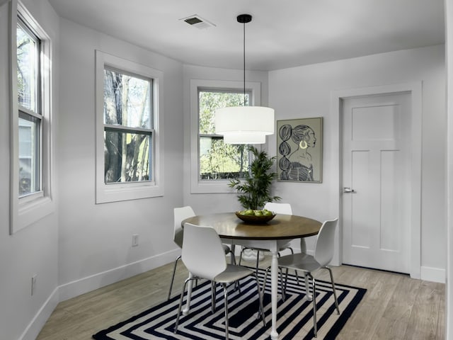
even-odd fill
[[[337,294],[335,290],[335,283],[333,282],[333,274],[331,268],[328,268],[328,263],[332,261],[335,229],[338,224],[338,218],[335,220],[327,220],[323,222],[321,229],[316,237],[314,245],[314,255],[308,255],[304,253],[291,254],[281,256],[278,259],[278,266],[280,269],[286,269],[286,278],[288,276],[288,269],[294,269],[296,271],[302,271],[304,276],[308,276],[311,279],[312,292],[313,292],[313,324],[314,324],[314,336],[316,338],[318,333],[316,323],[316,280],[312,273],[319,269],[327,269],[331,275],[331,284],[333,290],[333,297],[335,298],[335,306],[337,313],[340,314],[340,308],[338,307]],[[268,278],[268,270],[265,273],[264,284]],[[286,295],[287,280],[284,281],[283,296]]]

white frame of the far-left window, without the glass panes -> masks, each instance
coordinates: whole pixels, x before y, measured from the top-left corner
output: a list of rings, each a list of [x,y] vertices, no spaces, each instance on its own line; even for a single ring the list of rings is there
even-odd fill
[[[23,108],[18,103],[17,81],[17,26],[20,20],[38,40],[39,47],[39,82],[40,91],[37,93],[39,114]],[[9,233],[15,234],[19,230],[33,224],[42,217],[55,210],[52,200],[52,41],[45,33],[38,21],[21,4],[13,0],[10,2],[10,108],[11,108],[11,154],[10,154],[10,224]],[[19,196],[19,115],[21,112],[40,120],[39,129],[39,159],[38,171],[40,188],[35,193]]]

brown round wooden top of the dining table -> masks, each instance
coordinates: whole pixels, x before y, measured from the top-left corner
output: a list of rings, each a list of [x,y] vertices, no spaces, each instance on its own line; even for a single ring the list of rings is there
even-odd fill
[[[234,212],[197,215],[181,222],[213,227],[224,239],[297,239],[318,234],[322,223],[308,217],[277,214],[264,225],[239,220]]]

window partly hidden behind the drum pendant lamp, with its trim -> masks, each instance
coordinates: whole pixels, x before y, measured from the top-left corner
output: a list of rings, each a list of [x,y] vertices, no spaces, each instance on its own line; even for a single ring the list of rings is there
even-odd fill
[[[246,83],[246,105],[259,105],[260,83]],[[215,134],[214,112],[217,108],[242,106],[243,82],[190,81],[191,192],[228,193],[229,179],[243,178],[248,171],[246,145],[227,145]],[[240,122],[238,122],[240,123]]]

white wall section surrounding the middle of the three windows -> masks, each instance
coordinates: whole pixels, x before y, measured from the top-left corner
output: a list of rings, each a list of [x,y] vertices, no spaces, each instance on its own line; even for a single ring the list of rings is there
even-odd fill
[[[175,259],[173,207],[183,203],[183,67],[61,20],[59,283],[61,298]],[[164,72],[163,197],[95,204],[95,50]],[[139,246],[132,248],[132,234]]]

